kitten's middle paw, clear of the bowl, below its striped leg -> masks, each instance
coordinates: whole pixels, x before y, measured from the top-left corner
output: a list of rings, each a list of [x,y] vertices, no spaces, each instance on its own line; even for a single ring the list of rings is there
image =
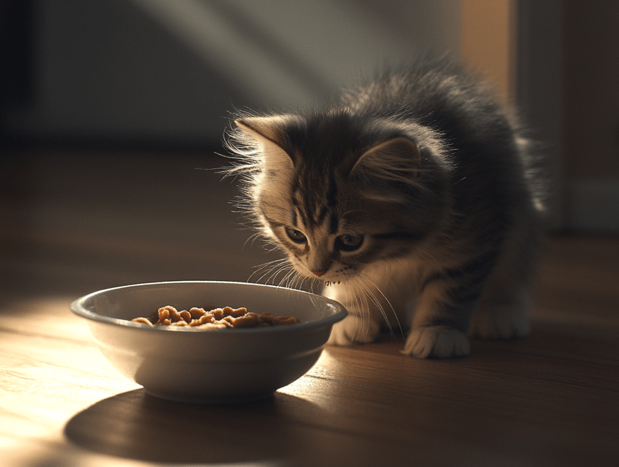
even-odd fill
[[[464,357],[470,353],[464,332],[446,326],[413,328],[402,353],[418,358]]]

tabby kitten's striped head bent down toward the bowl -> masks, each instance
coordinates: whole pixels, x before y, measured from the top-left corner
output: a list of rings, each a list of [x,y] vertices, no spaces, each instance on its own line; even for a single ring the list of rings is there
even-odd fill
[[[346,281],[412,255],[441,228],[448,167],[420,126],[346,112],[244,116],[230,148],[241,201],[305,278]]]

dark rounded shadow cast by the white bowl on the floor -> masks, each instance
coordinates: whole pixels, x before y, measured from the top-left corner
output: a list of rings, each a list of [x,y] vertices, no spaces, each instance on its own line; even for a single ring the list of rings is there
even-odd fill
[[[282,393],[242,405],[194,405],[137,389],[76,414],[65,426],[65,436],[87,450],[141,461],[289,459],[307,449],[300,446],[304,436],[291,414],[316,409],[311,402]]]

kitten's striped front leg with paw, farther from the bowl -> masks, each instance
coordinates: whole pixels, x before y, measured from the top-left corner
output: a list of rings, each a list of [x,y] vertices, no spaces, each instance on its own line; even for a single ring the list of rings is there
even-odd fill
[[[463,287],[437,274],[426,281],[402,353],[418,358],[464,357],[466,336],[481,285]]]

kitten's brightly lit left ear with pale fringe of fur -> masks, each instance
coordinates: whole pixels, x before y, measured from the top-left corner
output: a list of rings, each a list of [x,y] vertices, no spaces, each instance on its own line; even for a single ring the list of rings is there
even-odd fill
[[[246,117],[235,120],[245,138],[260,147],[260,154],[267,168],[291,169],[294,161],[284,149],[284,117]]]

